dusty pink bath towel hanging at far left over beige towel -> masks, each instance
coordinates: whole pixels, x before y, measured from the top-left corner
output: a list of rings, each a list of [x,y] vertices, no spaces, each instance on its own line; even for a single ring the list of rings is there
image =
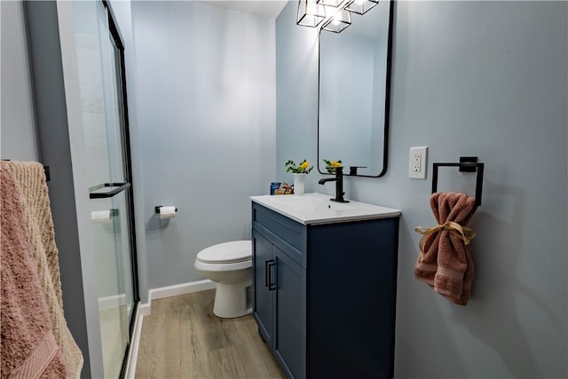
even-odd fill
[[[2,194],[1,377],[65,378],[66,364],[51,330],[24,211],[14,181],[0,168]]]

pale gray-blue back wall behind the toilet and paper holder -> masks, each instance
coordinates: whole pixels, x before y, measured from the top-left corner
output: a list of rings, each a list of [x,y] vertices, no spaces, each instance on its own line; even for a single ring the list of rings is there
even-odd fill
[[[274,20],[198,2],[131,10],[144,301],[149,288],[203,279],[201,249],[250,238],[248,196],[274,178]],[[159,220],[157,205],[177,206],[177,217]]]

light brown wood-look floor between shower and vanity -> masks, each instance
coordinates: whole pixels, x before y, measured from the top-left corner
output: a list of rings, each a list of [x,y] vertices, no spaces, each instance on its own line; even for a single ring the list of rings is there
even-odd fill
[[[215,289],[152,302],[144,318],[137,378],[283,378],[252,315],[219,319]]]

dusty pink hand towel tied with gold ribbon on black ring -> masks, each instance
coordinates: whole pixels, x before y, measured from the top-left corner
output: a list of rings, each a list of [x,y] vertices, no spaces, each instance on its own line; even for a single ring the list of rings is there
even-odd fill
[[[430,208],[438,226],[416,228],[424,234],[414,277],[455,304],[468,304],[475,274],[469,240],[475,233],[466,225],[476,212],[475,199],[464,193],[433,193]]]

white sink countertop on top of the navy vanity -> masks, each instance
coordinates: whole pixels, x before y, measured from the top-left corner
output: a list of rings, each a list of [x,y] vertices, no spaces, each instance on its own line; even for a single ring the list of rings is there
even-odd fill
[[[359,221],[400,215],[398,209],[385,208],[365,202],[331,201],[330,196],[323,193],[251,196],[250,200],[304,225]]]

